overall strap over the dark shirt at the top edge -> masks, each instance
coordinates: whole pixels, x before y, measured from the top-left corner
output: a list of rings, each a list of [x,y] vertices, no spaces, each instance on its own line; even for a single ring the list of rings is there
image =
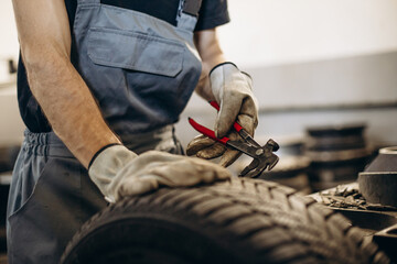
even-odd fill
[[[198,19],[202,0],[180,0],[178,9],[178,28],[193,31]]]

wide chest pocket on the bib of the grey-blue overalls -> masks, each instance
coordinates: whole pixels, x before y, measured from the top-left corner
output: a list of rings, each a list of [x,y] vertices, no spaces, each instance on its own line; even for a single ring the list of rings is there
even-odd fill
[[[141,32],[92,28],[88,56],[96,65],[175,77],[182,72],[184,45]]]

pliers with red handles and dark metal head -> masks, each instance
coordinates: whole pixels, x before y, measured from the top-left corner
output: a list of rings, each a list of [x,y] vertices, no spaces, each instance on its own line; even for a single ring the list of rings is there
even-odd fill
[[[216,101],[211,101],[210,105],[219,111],[219,106]],[[226,136],[218,139],[215,136],[215,132],[213,130],[198,124],[191,118],[189,118],[189,123],[196,131],[208,136],[210,139],[240,151],[254,158],[254,161],[238,175],[239,177],[258,177],[267,167],[269,167],[269,170],[273,168],[279,161],[279,157],[272,153],[279,148],[279,145],[276,143],[276,141],[270,139],[264,146],[260,146],[258,142],[256,142],[253,136],[250,136],[248,132],[237,122],[234,122],[233,128],[243,138],[244,141],[232,141]]]

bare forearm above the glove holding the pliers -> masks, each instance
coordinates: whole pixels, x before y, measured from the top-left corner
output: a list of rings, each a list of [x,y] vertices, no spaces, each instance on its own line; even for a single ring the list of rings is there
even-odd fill
[[[215,98],[210,87],[208,74],[213,67],[226,62],[217,40],[216,30],[196,32],[194,34],[194,43],[203,62],[203,70],[195,91],[207,101],[214,100]]]

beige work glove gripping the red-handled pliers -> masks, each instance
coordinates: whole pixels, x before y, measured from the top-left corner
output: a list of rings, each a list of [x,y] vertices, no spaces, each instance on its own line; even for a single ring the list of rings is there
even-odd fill
[[[226,135],[232,141],[242,140],[233,131],[233,123],[237,121],[254,136],[258,125],[258,108],[250,76],[240,72],[233,63],[224,63],[211,70],[210,85],[221,107],[215,122],[215,135],[219,139]],[[240,152],[227,148],[205,135],[198,135],[189,143],[186,154],[206,160],[222,156],[219,165],[227,167],[238,158]]]

